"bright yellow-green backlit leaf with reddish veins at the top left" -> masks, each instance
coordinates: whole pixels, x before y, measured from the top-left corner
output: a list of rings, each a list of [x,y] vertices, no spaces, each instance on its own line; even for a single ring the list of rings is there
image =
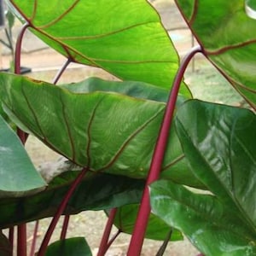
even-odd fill
[[[71,61],[170,88],[178,56],[145,0],[10,0],[32,32]]]

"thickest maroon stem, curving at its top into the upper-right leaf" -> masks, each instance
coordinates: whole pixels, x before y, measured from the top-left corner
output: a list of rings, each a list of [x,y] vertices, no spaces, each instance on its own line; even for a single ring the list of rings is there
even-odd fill
[[[143,191],[142,203],[139,208],[137,215],[137,221],[131,236],[130,246],[128,248],[128,256],[139,256],[143,247],[143,240],[148,224],[148,217],[150,214],[150,202],[149,202],[149,191],[148,185],[156,181],[160,176],[160,170],[162,161],[165,156],[166,143],[169,136],[169,131],[172,124],[173,113],[177,102],[177,94],[180,88],[180,84],[183,80],[183,74],[189,65],[189,61],[193,58],[196,53],[202,52],[200,46],[196,46],[191,49],[188,55],[186,55],[177,71],[176,78],[174,80],[172,90],[168,102],[166,104],[166,111],[160,127],[159,137],[157,139],[154,154],[151,161],[151,166],[148,172],[148,178]]]

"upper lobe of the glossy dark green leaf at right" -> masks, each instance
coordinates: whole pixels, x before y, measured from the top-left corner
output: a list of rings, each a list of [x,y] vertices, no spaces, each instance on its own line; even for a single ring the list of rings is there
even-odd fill
[[[176,127],[195,176],[256,233],[256,115],[189,101],[177,111]]]

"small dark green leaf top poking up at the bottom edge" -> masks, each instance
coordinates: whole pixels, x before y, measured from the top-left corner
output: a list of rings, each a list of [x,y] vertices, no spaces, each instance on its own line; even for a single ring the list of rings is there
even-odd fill
[[[49,247],[45,256],[92,256],[90,247],[84,237],[73,237],[55,241]]]

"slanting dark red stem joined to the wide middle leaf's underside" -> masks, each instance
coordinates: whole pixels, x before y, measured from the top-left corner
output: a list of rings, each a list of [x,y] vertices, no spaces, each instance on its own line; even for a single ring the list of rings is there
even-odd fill
[[[51,223],[49,224],[49,228],[44,236],[44,240],[42,241],[41,247],[39,248],[38,256],[44,256],[47,246],[49,244],[50,237],[52,236],[55,230],[55,226],[58,223],[61,217],[61,214],[64,212],[65,208],[67,207],[67,202],[69,201],[70,197],[73,195],[73,192],[77,188],[79,183],[81,183],[81,181],[83,180],[83,177],[86,174],[86,172],[88,172],[88,170],[89,170],[88,167],[84,167],[82,172],[80,172],[79,176],[73,181],[70,189],[67,191],[67,194],[61,201],[60,207],[57,209],[57,212],[55,213],[54,218],[51,220]]]

